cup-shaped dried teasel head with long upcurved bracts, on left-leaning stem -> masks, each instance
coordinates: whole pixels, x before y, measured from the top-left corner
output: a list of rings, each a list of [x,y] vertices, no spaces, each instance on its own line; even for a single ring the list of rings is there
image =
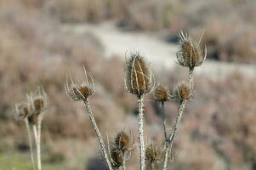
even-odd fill
[[[66,77],[65,92],[68,95],[68,97],[74,101],[84,101],[88,99],[90,95],[94,94],[95,91],[93,77],[90,76],[90,79],[88,79],[84,66],[83,71],[86,82],[82,82],[81,84],[76,84],[75,82],[73,82],[71,75],[69,77]]]

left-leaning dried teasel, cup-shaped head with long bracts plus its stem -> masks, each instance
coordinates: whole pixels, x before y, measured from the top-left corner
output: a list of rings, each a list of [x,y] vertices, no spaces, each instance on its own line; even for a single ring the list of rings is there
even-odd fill
[[[83,66],[83,73],[84,73],[85,81],[81,82],[80,84],[77,84],[73,81],[71,74],[69,74],[69,76],[66,77],[65,93],[71,100],[82,101],[83,104],[85,105],[86,110],[88,111],[88,116],[90,118],[90,121],[94,127],[94,132],[100,142],[100,148],[104,156],[104,159],[107,163],[108,168],[112,170],[111,158],[107,154],[105,143],[102,139],[99,127],[95,122],[94,114],[93,114],[93,111],[91,110],[91,106],[89,105],[89,101],[88,101],[89,96],[93,95],[95,91],[94,79],[91,76],[89,76],[88,78],[88,74],[84,66]]]

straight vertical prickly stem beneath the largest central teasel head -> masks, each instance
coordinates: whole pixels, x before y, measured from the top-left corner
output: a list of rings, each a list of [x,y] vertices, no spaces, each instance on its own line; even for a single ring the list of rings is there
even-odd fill
[[[145,145],[144,145],[144,135],[143,135],[143,95],[138,98],[138,109],[139,109],[139,169],[145,169]]]

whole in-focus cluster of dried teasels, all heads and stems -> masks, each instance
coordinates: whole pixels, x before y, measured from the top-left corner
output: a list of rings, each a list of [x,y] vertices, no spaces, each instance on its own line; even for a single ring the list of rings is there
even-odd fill
[[[177,52],[177,59],[179,65],[189,68],[188,80],[184,82],[178,82],[172,94],[168,88],[159,84],[155,88],[155,79],[150,69],[150,65],[145,61],[144,57],[139,53],[130,54],[125,63],[125,88],[129,94],[134,94],[138,99],[138,139],[139,139],[139,169],[145,170],[145,160],[151,163],[151,168],[155,168],[155,163],[163,162],[162,169],[168,169],[168,161],[173,155],[172,147],[174,142],[174,136],[176,134],[178,124],[182,119],[185,111],[185,105],[192,97],[193,92],[193,73],[194,69],[202,65],[206,58],[207,49],[203,49],[199,42],[193,42],[188,34],[184,34],[182,31],[179,33],[179,51]],[[117,133],[114,141],[109,144],[108,140],[108,152],[105,148],[105,143],[101,137],[99,128],[94,120],[94,114],[90,108],[88,98],[94,94],[94,79],[89,77],[84,67],[85,81],[77,84],[73,82],[71,75],[66,78],[65,92],[70,99],[74,101],[82,101],[85,105],[90,121],[94,127],[94,132],[100,142],[100,148],[103,156],[110,170],[112,169],[126,169],[126,161],[131,150],[134,148],[134,142],[131,142],[130,136],[121,131]],[[144,142],[144,97],[145,94],[149,94],[154,90],[154,99],[156,102],[162,104],[162,119],[164,127],[164,142],[163,149],[160,150],[155,144],[150,144],[145,149]],[[176,115],[176,119],[172,126],[172,129],[167,128],[166,118],[164,114],[164,103],[169,100],[176,100],[179,107]],[[22,110],[23,111],[23,110]],[[26,110],[24,110],[26,111]],[[26,115],[26,114],[24,114]]]

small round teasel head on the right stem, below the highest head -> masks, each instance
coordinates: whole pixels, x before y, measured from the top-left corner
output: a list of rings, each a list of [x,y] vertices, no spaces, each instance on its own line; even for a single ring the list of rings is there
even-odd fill
[[[179,100],[191,99],[192,89],[188,82],[178,82],[174,88],[174,97]]]

